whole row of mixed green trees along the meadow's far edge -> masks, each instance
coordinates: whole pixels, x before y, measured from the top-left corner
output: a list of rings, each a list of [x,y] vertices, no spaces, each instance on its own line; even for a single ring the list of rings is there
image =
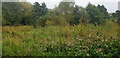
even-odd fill
[[[35,2],[3,2],[2,3],[2,25],[78,25],[78,24],[105,24],[111,20],[118,20],[119,11],[108,13],[104,5],[93,5],[88,3],[86,8],[75,5],[75,2],[60,2],[53,9],[48,9],[45,3]]]

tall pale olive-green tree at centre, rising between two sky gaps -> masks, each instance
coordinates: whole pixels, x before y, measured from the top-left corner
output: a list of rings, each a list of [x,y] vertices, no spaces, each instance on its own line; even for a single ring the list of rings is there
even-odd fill
[[[70,23],[73,19],[73,9],[74,9],[75,2],[60,2],[58,5],[58,13],[60,16],[63,16],[66,23]]]

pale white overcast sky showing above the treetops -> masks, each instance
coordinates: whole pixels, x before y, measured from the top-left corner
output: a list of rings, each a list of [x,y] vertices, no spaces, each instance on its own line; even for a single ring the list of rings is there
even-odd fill
[[[55,5],[58,5],[61,0],[27,0],[28,2],[34,3],[35,1],[38,1],[40,3],[45,2],[48,5],[48,8],[54,8]],[[107,9],[108,12],[115,12],[118,10],[118,2],[119,0],[75,0],[76,4],[79,6],[86,7],[88,2],[91,2],[92,4],[95,5],[104,5]]]

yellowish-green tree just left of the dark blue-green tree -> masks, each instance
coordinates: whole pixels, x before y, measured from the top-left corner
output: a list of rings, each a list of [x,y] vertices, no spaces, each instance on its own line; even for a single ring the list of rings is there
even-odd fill
[[[22,25],[32,25],[32,4],[30,3],[21,3],[21,7],[23,7],[23,12],[20,15],[20,18],[22,19],[21,24]]]

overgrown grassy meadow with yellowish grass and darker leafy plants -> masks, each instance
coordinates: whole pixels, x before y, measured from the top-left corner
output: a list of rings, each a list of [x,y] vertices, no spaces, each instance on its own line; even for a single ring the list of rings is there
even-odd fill
[[[118,25],[3,26],[3,56],[120,56]]]

